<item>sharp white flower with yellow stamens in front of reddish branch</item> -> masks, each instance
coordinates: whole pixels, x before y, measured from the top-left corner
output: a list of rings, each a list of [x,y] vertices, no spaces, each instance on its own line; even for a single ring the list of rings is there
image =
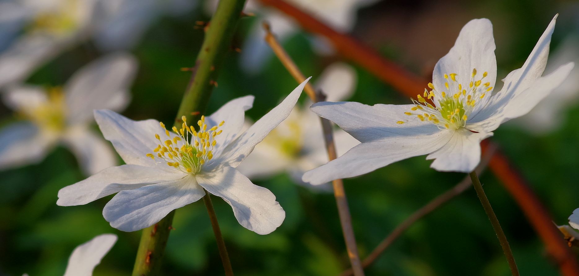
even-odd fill
[[[541,77],[555,18],[522,68],[509,73],[503,89],[494,95],[497,70],[492,24],[477,19],[460,31],[455,46],[434,68],[434,84],[428,84],[432,90],[425,89],[414,104],[316,103],[312,111],[336,122],[362,143],[340,158],[307,171],[303,181],[316,185],[359,176],[426,154],[427,159],[434,159],[431,167],[436,170],[472,171],[481,159],[480,141],[492,136],[503,122],[529,112],[573,69],[571,62]]]

